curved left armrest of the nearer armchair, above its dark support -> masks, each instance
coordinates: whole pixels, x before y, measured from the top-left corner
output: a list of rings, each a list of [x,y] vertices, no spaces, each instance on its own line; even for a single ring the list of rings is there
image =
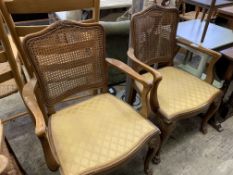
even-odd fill
[[[36,80],[31,79],[24,87],[22,91],[22,96],[26,107],[32,113],[35,119],[35,133],[38,137],[43,136],[46,132],[46,124],[44,120],[43,113],[37,103],[34,90],[36,86]]]

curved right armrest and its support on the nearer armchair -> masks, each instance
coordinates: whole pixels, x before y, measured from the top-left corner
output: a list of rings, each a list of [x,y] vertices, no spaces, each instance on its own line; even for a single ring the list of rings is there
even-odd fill
[[[116,67],[117,69],[126,73],[132,79],[140,82],[143,85],[143,90],[142,90],[142,93],[140,94],[141,98],[142,98],[142,107],[141,107],[140,113],[145,118],[147,118],[149,116],[149,110],[148,110],[149,106],[148,106],[147,96],[148,96],[151,88],[153,87],[153,84],[151,82],[148,82],[147,80],[145,80],[145,78],[142,75],[140,75],[139,73],[134,71],[131,67],[129,67],[128,65],[124,64],[123,62],[121,62],[119,60],[112,59],[112,58],[106,58],[106,61],[108,62],[108,64]]]

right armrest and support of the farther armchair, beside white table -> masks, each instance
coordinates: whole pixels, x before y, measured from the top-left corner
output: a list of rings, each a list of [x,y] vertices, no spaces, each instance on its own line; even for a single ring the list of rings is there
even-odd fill
[[[190,43],[188,41],[185,41],[181,38],[177,38],[177,43],[185,45],[191,49],[195,49],[198,52],[204,53],[206,55],[209,55],[211,57],[211,60],[207,66],[207,72],[206,72],[206,79],[205,81],[212,84],[214,80],[214,65],[219,60],[219,58],[222,56],[219,52],[216,52],[211,49],[204,48],[202,45],[195,45],[193,43]]]

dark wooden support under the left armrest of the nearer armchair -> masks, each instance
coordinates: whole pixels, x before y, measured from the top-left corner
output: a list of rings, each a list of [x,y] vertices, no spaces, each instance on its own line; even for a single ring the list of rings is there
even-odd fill
[[[52,150],[50,148],[47,136],[43,135],[43,136],[39,137],[39,139],[40,139],[40,142],[41,142],[42,147],[43,147],[45,161],[48,165],[48,168],[51,171],[56,171],[59,168],[59,164],[53,156],[53,153],[52,153]]]

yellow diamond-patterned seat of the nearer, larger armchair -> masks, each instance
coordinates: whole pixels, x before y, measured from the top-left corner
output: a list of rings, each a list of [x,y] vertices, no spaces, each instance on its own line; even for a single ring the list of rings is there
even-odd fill
[[[52,145],[64,174],[91,174],[139,149],[159,130],[110,94],[68,107],[50,119]]]

